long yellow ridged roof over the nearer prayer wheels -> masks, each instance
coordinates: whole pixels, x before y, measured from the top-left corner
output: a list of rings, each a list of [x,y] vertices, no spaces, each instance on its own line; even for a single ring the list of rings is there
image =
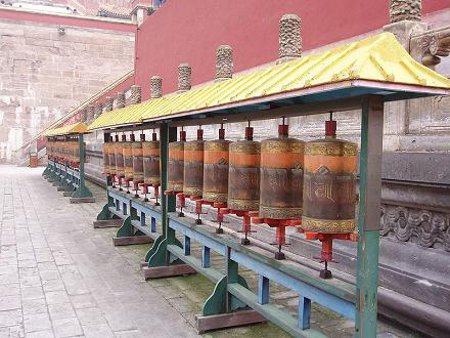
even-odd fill
[[[302,96],[302,90],[357,80],[379,83],[380,88],[383,84],[418,86],[419,93],[427,93],[427,88],[450,89],[447,78],[416,62],[392,33],[381,33],[231,80],[111,111],[102,114],[88,129],[138,124],[289,92]]]

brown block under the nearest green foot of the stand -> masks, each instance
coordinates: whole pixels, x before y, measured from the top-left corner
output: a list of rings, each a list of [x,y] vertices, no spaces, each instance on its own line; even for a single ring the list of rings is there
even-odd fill
[[[228,327],[264,323],[267,319],[255,310],[236,311],[212,316],[195,316],[195,328],[198,333],[225,329]]]

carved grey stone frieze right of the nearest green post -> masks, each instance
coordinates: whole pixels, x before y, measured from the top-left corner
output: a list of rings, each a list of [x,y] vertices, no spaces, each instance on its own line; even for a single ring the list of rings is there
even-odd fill
[[[380,234],[393,236],[400,242],[450,251],[449,223],[450,214],[383,205]]]

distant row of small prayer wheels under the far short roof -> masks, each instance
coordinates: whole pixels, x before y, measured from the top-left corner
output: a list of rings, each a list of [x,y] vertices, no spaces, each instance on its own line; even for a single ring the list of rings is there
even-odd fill
[[[46,148],[50,160],[78,168],[80,149],[77,140],[47,140]]]

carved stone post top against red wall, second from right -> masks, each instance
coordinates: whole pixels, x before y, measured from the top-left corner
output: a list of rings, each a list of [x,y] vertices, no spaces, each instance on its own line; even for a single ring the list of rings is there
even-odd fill
[[[295,14],[285,14],[280,19],[278,63],[302,56],[301,19]]]

